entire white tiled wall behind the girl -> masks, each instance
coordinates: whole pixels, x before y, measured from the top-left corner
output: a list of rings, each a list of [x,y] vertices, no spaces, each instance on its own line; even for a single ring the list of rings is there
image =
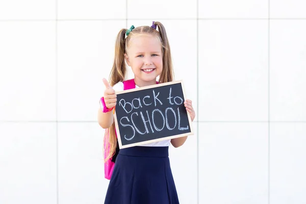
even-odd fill
[[[96,121],[121,28],[161,21],[195,135],[181,203],[306,203],[303,0],[0,1],[0,203],[103,203]],[[116,204],[116,203],[115,203]]]

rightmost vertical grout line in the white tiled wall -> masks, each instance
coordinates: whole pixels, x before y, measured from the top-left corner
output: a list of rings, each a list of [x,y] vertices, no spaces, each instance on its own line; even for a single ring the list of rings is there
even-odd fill
[[[270,0],[268,0],[268,204],[270,204]]]

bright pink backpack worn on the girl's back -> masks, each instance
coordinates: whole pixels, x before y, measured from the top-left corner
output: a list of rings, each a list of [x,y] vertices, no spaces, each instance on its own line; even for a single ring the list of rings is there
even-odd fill
[[[123,90],[127,90],[127,89],[135,89],[136,85],[135,85],[135,81],[134,79],[132,80],[127,80],[127,81],[123,81]],[[116,134],[117,137],[117,134]],[[107,146],[108,145],[108,146]],[[106,148],[108,147],[108,148]],[[106,157],[109,154],[109,129],[105,130],[105,135],[104,135],[104,159],[106,159]],[[108,159],[105,163],[104,163],[104,177],[108,180],[111,179],[112,177],[112,173],[114,170],[114,166],[115,166],[115,161],[116,161],[116,157],[119,153],[119,144],[117,141],[117,147],[116,147],[116,151],[115,151],[115,155],[113,157],[111,157],[110,159]]]

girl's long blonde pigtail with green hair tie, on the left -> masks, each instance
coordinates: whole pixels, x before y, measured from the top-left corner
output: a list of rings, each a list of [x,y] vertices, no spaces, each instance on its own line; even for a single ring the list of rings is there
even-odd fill
[[[125,32],[126,29],[121,29],[121,31],[117,35],[116,43],[115,43],[115,58],[113,68],[110,73],[110,85],[114,86],[118,82],[124,81],[126,74],[126,66],[124,60],[125,53]],[[117,147],[117,137],[115,130],[115,123],[105,130],[104,136],[104,155],[105,162],[112,158],[115,154]]]

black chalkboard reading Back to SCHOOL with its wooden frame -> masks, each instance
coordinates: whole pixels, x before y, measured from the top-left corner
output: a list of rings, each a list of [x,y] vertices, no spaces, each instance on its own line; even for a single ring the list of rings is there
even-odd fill
[[[183,81],[116,92],[119,148],[193,135]]]

